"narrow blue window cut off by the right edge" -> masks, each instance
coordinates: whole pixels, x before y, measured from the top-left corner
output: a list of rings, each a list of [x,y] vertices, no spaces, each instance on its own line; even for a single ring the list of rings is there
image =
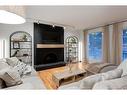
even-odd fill
[[[126,58],[127,58],[127,29],[124,29],[122,35],[122,60]]]

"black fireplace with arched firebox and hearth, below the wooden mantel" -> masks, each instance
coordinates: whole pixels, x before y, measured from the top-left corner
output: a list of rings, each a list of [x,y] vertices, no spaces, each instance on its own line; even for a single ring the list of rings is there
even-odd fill
[[[36,70],[64,66],[64,48],[38,48]]]

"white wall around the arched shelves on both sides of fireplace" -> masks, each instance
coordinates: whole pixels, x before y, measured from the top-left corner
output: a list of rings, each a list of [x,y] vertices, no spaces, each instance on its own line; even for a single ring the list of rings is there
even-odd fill
[[[6,25],[6,24],[0,24],[0,40],[4,39],[6,40],[6,57],[9,57],[10,54],[10,43],[9,43],[9,36],[16,31],[25,31],[28,32],[29,34],[31,34],[32,38],[33,38],[33,23],[32,22],[27,22],[24,24],[20,24],[20,25]],[[84,57],[84,51],[83,51],[83,32],[81,30],[72,30],[72,29],[65,29],[64,32],[64,39],[66,39],[68,36],[76,36],[79,39],[79,60],[82,61],[83,57]],[[65,40],[64,40],[65,42]],[[82,45],[82,46],[81,46]],[[34,46],[34,45],[33,45]],[[34,48],[32,47],[32,50],[34,50]],[[32,53],[33,54],[33,53]],[[66,56],[66,55],[65,55]],[[33,60],[34,62],[34,60]]]

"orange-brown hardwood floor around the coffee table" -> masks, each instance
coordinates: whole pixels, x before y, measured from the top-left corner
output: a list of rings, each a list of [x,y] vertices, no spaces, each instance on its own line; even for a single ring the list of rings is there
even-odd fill
[[[76,63],[71,64],[72,69],[83,69],[84,63]],[[56,84],[52,80],[52,75],[57,72],[64,72],[65,70],[68,70],[67,66],[58,67],[58,68],[52,68],[47,70],[38,71],[38,75],[44,82],[47,89],[57,89]]]

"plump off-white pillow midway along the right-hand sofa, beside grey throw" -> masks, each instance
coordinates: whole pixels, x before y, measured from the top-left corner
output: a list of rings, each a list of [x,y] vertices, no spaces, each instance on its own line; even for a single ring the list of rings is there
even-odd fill
[[[102,73],[102,80],[110,80],[115,78],[120,78],[123,73],[122,69],[114,69],[106,73]]]

